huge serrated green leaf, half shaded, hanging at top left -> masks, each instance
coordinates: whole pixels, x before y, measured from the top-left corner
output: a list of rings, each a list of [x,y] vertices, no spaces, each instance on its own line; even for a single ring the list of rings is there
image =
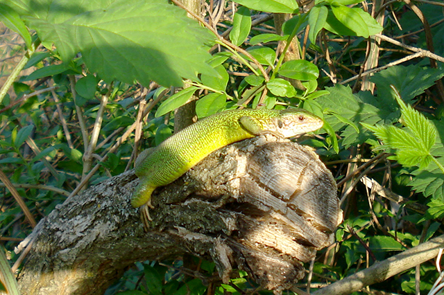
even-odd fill
[[[214,37],[164,0],[77,1],[75,6],[69,0],[22,0],[13,8],[26,15],[43,43],[56,45],[63,61],[80,51],[89,71],[107,81],[181,86],[182,78],[214,73],[205,45]]]

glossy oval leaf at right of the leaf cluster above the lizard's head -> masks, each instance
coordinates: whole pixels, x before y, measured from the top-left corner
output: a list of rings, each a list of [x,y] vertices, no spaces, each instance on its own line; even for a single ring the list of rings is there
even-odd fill
[[[319,77],[317,66],[307,60],[289,60],[280,67],[280,75],[295,80],[316,80]]]

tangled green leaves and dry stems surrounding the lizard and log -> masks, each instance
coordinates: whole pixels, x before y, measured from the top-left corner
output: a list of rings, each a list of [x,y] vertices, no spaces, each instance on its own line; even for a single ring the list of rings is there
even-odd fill
[[[84,2],[0,1],[0,240],[14,270],[36,220],[130,169],[189,100],[198,118],[291,105],[325,119],[304,143],[334,173],[344,222],[298,287],[443,232],[441,1],[205,1],[194,19],[175,1]],[[438,276],[426,263],[359,294],[429,292]],[[212,262],[183,257],[141,262],[107,294],[187,292],[270,293],[242,272],[221,285]]]

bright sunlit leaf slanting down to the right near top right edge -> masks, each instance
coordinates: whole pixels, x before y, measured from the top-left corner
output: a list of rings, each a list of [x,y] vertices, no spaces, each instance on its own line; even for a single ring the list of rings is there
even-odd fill
[[[332,12],[336,19],[338,19],[341,24],[355,32],[357,36],[362,36],[368,38],[368,25],[362,19],[361,15],[357,10],[360,8],[348,8],[347,6],[331,6]]]

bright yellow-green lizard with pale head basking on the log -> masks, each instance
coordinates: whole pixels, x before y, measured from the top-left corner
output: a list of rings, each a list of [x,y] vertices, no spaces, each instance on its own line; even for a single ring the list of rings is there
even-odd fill
[[[140,179],[131,204],[151,207],[151,193],[166,186],[220,147],[262,134],[291,137],[321,128],[323,121],[304,109],[235,109],[223,111],[182,129],[135,163]]]

